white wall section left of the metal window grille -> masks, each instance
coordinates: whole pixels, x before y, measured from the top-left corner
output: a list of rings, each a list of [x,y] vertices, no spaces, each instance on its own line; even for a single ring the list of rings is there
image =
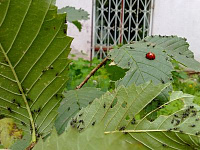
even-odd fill
[[[86,10],[90,16],[89,20],[81,21],[82,31],[79,32],[78,29],[71,23],[68,23],[68,36],[74,38],[72,42],[72,53],[77,51],[83,51],[90,56],[90,47],[91,47],[91,19],[92,19],[92,0],[57,0],[56,5],[58,8],[65,6],[73,6],[77,9],[82,8]]]

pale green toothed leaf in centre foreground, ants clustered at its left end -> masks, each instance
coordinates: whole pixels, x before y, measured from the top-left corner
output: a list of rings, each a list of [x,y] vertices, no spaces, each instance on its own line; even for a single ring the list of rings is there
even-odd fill
[[[69,123],[82,131],[104,121],[105,131],[119,130],[127,126],[160,92],[169,85],[154,85],[151,82],[125,88],[121,86],[114,93],[107,92],[83,108]]]

